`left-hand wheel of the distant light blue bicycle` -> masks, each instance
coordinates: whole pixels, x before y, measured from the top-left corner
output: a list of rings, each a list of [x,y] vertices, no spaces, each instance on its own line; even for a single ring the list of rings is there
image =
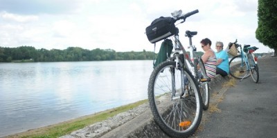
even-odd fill
[[[242,61],[241,55],[233,57],[229,61],[230,75],[235,79],[243,79],[250,77],[250,72],[247,70],[247,65]]]

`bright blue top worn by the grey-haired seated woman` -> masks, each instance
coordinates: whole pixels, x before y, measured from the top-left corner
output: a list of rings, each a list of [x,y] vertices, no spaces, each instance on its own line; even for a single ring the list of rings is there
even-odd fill
[[[217,68],[221,68],[229,74],[229,56],[227,52],[225,50],[221,50],[220,52],[215,52],[215,56],[217,57],[217,60],[222,59],[222,62],[220,65],[217,65]]]

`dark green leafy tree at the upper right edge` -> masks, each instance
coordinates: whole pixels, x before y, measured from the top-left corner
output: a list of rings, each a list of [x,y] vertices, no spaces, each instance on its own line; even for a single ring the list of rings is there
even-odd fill
[[[256,38],[277,54],[277,0],[258,0]]]

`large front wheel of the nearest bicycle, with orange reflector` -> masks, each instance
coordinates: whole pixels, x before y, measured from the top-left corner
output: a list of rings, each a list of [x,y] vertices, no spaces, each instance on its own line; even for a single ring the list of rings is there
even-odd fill
[[[175,61],[164,61],[154,68],[148,83],[148,100],[154,121],[171,137],[189,137],[197,130],[202,119],[202,97],[197,82],[186,68],[186,93],[179,94],[181,79],[184,80],[181,71]],[[177,99],[172,100],[172,90],[175,90]],[[190,124],[181,127],[183,122]]]

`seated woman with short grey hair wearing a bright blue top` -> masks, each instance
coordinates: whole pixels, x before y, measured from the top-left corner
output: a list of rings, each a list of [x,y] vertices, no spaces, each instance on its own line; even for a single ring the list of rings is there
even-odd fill
[[[225,50],[223,50],[223,43],[221,41],[215,43],[215,48],[217,50],[217,52],[215,52],[215,56],[217,57],[216,74],[225,77],[229,75],[229,56]]]

